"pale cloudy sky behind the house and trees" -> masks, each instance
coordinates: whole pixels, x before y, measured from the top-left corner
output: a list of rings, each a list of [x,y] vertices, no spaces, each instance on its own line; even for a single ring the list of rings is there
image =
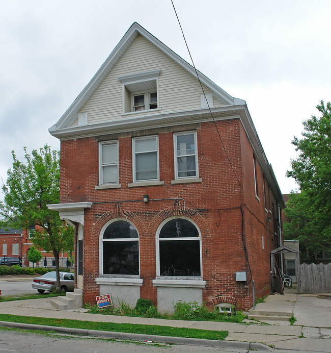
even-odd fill
[[[291,141],[331,99],[331,2],[174,4],[196,67],[246,100],[282,192],[296,189],[285,177]],[[0,178],[11,150],[22,159],[23,146],[60,148],[48,128],[134,21],[190,62],[171,0],[0,0]]]

